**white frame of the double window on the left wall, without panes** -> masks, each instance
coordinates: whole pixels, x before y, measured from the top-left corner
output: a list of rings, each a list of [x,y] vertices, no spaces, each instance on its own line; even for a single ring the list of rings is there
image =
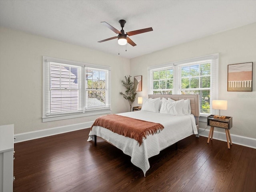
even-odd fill
[[[92,116],[92,115],[102,115],[102,114],[108,114],[111,113],[111,67],[108,66],[103,66],[103,65],[95,65],[95,64],[89,64],[89,63],[82,63],[78,61],[69,61],[65,59],[58,59],[58,58],[53,58],[53,57],[42,57],[43,60],[43,111],[42,111],[42,121],[43,122],[48,122],[48,121],[57,121],[57,120],[62,120],[62,119],[71,119],[71,118],[77,118],[77,117],[86,117],[86,116]],[[74,66],[79,66],[81,68],[81,78],[80,78],[80,86],[84,87],[84,89],[80,89],[79,94],[85,94],[86,93],[86,77],[84,75],[84,70],[86,67],[88,68],[93,68],[93,69],[98,69],[99,71],[106,71],[106,103],[107,107],[103,107],[100,109],[86,109],[83,108],[82,111],[75,111],[75,112],[68,112],[66,114],[61,113],[61,114],[56,114],[56,115],[47,115],[47,108],[49,108],[49,100],[48,100],[48,94],[50,92],[50,62],[54,63],[60,63],[60,64],[67,64],[67,65],[74,65]],[[83,68],[84,67],[84,68]],[[84,104],[86,103],[86,95],[85,95],[85,101],[79,101],[78,105],[85,106]],[[80,97],[81,98],[81,97]],[[81,104],[83,102],[83,104]]]

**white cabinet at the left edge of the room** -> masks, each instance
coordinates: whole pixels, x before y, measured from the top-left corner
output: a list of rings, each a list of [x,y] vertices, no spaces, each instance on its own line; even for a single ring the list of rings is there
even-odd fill
[[[0,192],[13,191],[14,125],[0,126]]]

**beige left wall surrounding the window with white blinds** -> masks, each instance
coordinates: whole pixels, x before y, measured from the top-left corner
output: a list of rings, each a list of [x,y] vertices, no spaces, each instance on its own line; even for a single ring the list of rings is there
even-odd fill
[[[14,133],[94,121],[98,116],[42,123],[42,56],[112,67],[112,113],[129,111],[121,80],[130,74],[130,60],[93,49],[23,32],[0,29],[0,125],[14,124]],[[122,106],[122,107],[120,107]]]

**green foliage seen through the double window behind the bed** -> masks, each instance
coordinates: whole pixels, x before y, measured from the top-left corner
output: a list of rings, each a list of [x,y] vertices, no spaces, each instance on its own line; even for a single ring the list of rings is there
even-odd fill
[[[200,113],[210,113],[210,63],[180,66],[181,94],[198,94]],[[173,68],[152,72],[153,94],[172,94]]]

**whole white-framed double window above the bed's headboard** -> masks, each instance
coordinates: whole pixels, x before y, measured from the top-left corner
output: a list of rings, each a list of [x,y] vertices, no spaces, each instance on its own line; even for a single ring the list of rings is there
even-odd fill
[[[198,94],[200,114],[218,98],[218,54],[148,67],[149,94]]]

